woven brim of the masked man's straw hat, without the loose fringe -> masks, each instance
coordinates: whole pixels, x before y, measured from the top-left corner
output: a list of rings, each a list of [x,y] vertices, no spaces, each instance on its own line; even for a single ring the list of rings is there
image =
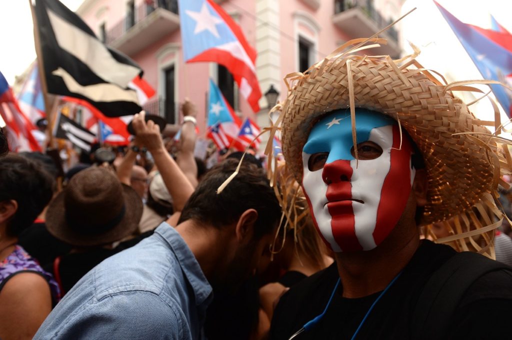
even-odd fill
[[[390,58],[351,55],[293,80],[282,104],[282,141],[286,163],[298,182],[311,128],[332,110],[350,110],[352,83],[353,106],[399,121],[421,151],[429,181],[425,224],[467,210],[497,187],[500,169],[493,155],[503,161],[505,156],[489,130],[424,71],[399,69]]]

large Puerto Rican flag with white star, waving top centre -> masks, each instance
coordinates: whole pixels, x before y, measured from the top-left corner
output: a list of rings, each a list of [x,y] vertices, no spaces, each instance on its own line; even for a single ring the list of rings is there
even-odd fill
[[[212,0],[179,0],[185,62],[212,61],[233,75],[254,112],[260,110],[256,51],[221,6]]]

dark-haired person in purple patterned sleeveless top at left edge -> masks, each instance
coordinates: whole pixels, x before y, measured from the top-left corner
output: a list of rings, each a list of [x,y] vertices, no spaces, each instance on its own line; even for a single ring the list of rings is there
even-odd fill
[[[31,339],[58,302],[50,274],[17,245],[18,235],[42,212],[54,180],[18,155],[0,162],[0,338]]]

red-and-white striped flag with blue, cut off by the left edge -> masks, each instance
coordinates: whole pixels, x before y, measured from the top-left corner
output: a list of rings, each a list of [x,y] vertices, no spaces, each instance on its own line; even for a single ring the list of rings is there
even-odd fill
[[[0,116],[6,123],[5,131],[9,150],[13,152],[41,151],[41,147],[32,135],[36,128],[23,114],[11,87],[0,72]]]

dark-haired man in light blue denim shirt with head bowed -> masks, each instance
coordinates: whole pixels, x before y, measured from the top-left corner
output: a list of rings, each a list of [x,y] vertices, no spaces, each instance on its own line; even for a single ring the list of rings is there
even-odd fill
[[[281,209],[261,169],[238,162],[212,169],[176,228],[155,234],[84,276],[35,339],[201,339],[212,286],[236,289],[268,251]]]

